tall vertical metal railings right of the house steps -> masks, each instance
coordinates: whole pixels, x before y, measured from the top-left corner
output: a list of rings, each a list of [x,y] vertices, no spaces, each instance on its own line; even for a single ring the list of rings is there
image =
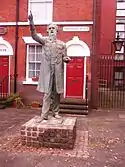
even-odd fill
[[[125,108],[125,60],[107,55],[99,59],[98,106]]]

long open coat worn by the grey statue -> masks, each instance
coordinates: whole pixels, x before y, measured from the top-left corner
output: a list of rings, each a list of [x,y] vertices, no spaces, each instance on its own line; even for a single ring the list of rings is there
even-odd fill
[[[48,93],[51,78],[51,42],[49,38],[40,38],[37,34],[32,34],[34,40],[42,45],[41,67],[37,90]],[[57,93],[63,93],[64,88],[64,61],[67,57],[66,45],[60,40],[56,40],[55,45],[56,63],[55,80]]]

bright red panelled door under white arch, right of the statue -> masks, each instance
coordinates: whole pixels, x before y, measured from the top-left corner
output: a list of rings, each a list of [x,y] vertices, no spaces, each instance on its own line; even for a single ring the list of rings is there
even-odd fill
[[[84,58],[73,57],[66,67],[66,97],[83,98]]]

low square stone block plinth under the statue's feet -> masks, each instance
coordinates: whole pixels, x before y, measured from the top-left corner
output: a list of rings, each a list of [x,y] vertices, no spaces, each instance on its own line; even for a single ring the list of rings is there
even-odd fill
[[[76,138],[76,118],[51,118],[37,123],[36,116],[21,126],[23,145],[72,149]]]

